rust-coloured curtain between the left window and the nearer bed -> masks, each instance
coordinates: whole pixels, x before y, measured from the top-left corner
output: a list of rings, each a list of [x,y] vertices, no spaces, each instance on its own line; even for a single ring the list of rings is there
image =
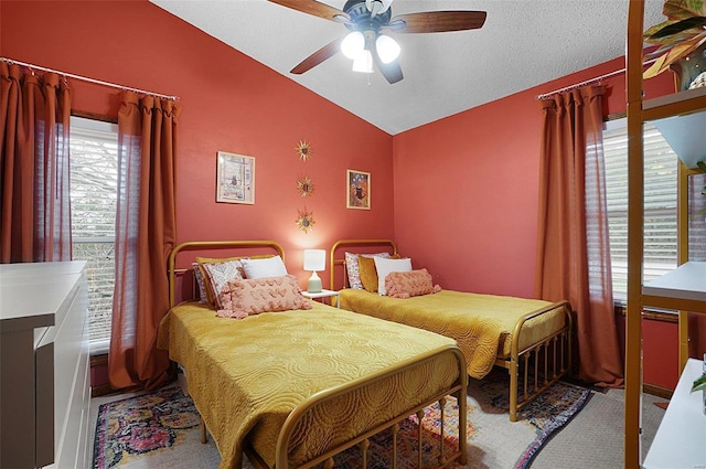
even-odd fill
[[[116,283],[108,352],[115,388],[154,388],[171,377],[167,352],[157,350],[157,330],[169,309],[179,113],[171,100],[126,92],[118,115]]]

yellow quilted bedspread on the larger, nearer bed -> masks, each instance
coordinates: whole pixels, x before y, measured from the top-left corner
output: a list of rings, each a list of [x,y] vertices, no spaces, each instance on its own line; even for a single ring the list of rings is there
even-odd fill
[[[216,318],[196,303],[173,308],[159,347],[185,370],[189,392],[222,456],[236,468],[244,444],[270,465],[279,430],[312,394],[431,351],[458,350],[445,337],[312,302],[312,310]],[[462,356],[460,356],[462,361]],[[321,455],[449,388],[462,370],[453,353],[317,408],[295,431],[292,461]]]

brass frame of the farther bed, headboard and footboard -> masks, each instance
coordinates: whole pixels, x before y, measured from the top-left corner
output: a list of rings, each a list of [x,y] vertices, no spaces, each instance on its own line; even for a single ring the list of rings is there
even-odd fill
[[[336,252],[344,247],[384,248],[392,255],[398,255],[397,244],[392,239],[340,239],[333,244],[330,254],[330,288],[334,289],[336,266],[343,266],[343,288],[346,288],[347,273],[345,257],[336,257]],[[361,253],[363,254],[363,253]],[[340,297],[338,299],[340,305]],[[565,313],[564,328],[555,331],[541,341],[520,348],[522,328],[528,320],[563,308]],[[558,301],[522,316],[512,331],[510,356],[498,356],[495,365],[506,369],[510,375],[509,414],[511,422],[517,422],[520,411],[537,397],[543,391],[567,374],[571,366],[571,306],[568,301]],[[522,382],[521,379],[522,372]],[[522,383],[522,391],[520,384]]]

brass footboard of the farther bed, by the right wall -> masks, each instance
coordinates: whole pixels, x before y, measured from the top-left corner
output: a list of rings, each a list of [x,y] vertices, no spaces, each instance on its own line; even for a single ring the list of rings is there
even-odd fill
[[[557,308],[563,308],[564,327],[549,337],[521,349],[523,326],[528,320]],[[525,405],[569,371],[573,329],[571,306],[568,301],[559,301],[530,312],[517,321],[512,333],[510,356],[495,361],[496,365],[507,369],[510,374],[511,422],[517,422],[517,413]]]

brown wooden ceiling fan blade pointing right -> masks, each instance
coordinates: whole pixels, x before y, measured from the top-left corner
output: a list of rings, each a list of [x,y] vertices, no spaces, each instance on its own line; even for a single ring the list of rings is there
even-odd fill
[[[426,11],[400,14],[381,26],[398,33],[439,33],[477,30],[485,23],[484,11]]]

